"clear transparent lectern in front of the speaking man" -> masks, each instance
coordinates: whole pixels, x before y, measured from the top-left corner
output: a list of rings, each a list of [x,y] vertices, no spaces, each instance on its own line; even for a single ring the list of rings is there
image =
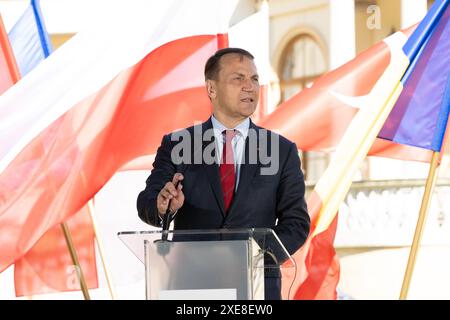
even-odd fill
[[[147,299],[264,299],[264,275],[294,267],[272,229],[120,232],[145,264]]]

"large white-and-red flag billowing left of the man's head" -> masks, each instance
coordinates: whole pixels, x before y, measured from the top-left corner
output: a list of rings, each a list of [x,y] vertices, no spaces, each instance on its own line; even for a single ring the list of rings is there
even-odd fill
[[[0,97],[0,271],[163,134],[207,119],[203,66],[236,4],[112,4]]]

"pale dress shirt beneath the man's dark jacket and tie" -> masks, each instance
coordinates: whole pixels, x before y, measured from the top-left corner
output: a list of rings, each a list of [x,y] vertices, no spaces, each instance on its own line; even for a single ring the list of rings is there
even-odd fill
[[[241,163],[244,155],[245,139],[247,139],[248,129],[250,127],[250,119],[245,119],[234,128],[225,127],[219,120],[214,117],[214,115],[211,116],[211,122],[213,125],[214,138],[216,141],[217,163],[220,163],[220,159],[222,159],[223,144],[225,143],[225,136],[222,134],[222,132],[224,130],[236,130],[236,135],[231,140],[234,156],[234,172],[236,173],[236,185],[234,191],[236,191],[239,184]]]

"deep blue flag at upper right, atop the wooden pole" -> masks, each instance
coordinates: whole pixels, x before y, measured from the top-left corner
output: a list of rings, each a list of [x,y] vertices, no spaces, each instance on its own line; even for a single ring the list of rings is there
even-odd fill
[[[450,111],[449,3],[436,1],[403,48],[411,64],[380,138],[441,150]]]

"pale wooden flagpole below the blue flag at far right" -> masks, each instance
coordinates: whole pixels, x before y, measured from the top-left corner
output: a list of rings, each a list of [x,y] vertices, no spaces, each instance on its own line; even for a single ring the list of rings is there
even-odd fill
[[[431,203],[431,195],[436,185],[437,169],[439,166],[439,152],[433,152],[430,163],[430,171],[428,172],[427,181],[425,184],[425,191],[422,197],[422,204],[420,206],[419,218],[417,219],[416,231],[414,233],[413,243],[409,252],[408,265],[406,267],[405,276],[403,278],[402,290],[400,292],[400,300],[405,300],[408,296],[408,290],[411,283],[414,265],[417,259],[417,252],[419,250],[420,240],[422,238],[422,231],[425,224],[425,219]]]

